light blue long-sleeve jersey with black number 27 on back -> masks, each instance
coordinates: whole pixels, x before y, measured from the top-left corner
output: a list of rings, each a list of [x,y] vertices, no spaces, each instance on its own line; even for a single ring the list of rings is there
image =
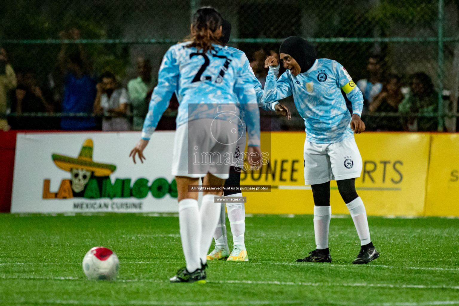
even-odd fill
[[[242,115],[246,124],[248,145],[259,146],[260,113],[253,72],[244,67],[246,56],[235,57],[220,45],[213,45],[214,50],[204,54],[188,48],[189,44],[173,45],[162,59],[142,139],[150,139],[175,92],[179,101],[177,127],[196,119],[218,116],[217,119],[226,120],[227,117],[218,114],[218,104],[237,104],[236,115]]]

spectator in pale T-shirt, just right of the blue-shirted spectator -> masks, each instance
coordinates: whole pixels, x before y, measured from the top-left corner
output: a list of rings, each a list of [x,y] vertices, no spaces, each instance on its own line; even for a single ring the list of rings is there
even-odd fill
[[[129,111],[128,92],[119,88],[115,76],[105,72],[97,84],[97,95],[94,101],[94,113],[104,115],[102,131],[129,131],[131,124],[126,118]]]

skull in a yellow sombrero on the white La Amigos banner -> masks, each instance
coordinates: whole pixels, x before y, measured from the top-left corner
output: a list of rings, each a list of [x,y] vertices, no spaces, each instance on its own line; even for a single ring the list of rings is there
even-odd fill
[[[53,154],[52,159],[57,167],[72,175],[72,189],[81,192],[88,184],[91,176],[106,177],[116,170],[115,165],[104,164],[92,160],[92,139],[86,139],[78,157]]]

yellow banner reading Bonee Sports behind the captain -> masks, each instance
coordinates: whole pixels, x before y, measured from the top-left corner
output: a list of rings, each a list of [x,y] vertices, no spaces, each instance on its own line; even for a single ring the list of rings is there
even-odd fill
[[[312,214],[313,195],[311,186],[304,185],[302,167],[305,133],[262,134],[263,151],[269,151],[263,143],[270,138],[269,164],[243,172],[241,184],[272,185],[272,189],[245,193],[246,212]],[[369,215],[423,215],[430,137],[428,133],[355,135],[363,160],[356,189]],[[348,213],[335,181],[330,189],[332,213]]]

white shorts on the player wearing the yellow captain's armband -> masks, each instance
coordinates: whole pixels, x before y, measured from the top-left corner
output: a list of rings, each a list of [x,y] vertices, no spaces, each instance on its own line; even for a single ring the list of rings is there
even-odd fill
[[[305,185],[359,178],[362,172],[362,156],[355,139],[334,144],[316,144],[306,140],[303,158]]]

